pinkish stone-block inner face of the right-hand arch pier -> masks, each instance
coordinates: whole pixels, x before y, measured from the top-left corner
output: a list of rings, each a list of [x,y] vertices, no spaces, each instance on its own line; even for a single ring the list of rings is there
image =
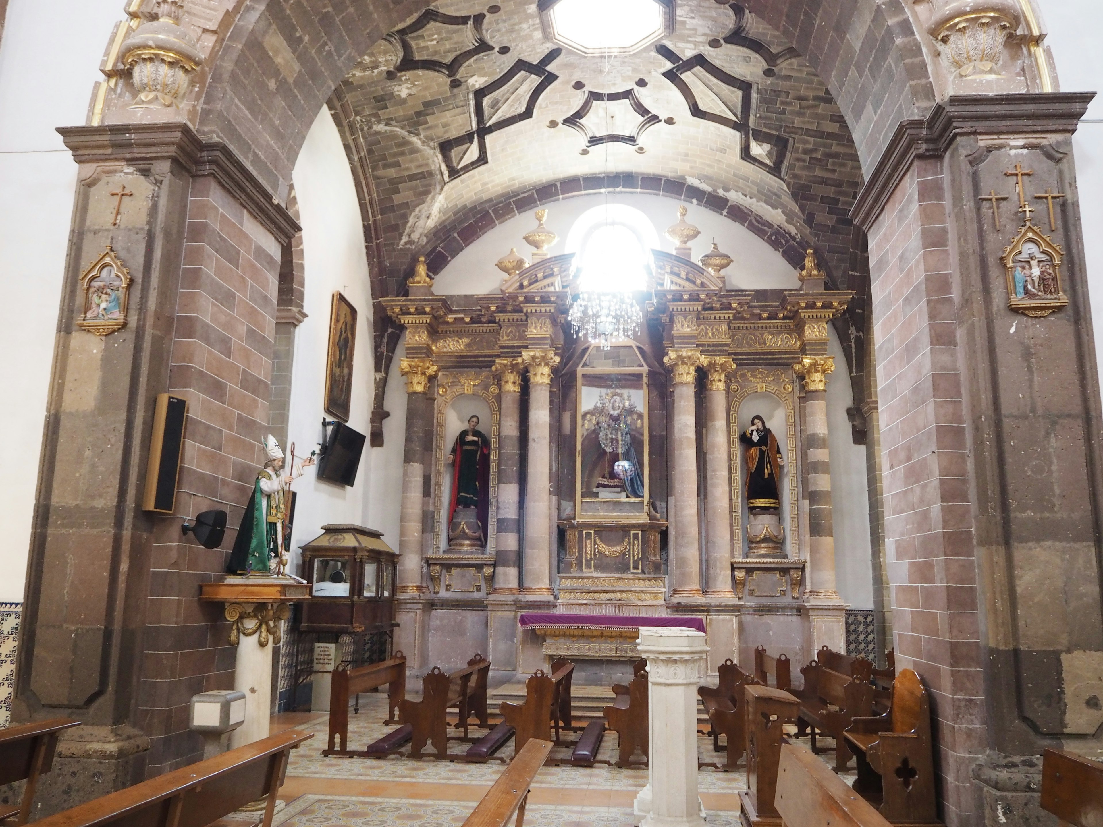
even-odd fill
[[[949,827],[971,823],[986,743],[962,361],[939,161],[920,160],[869,235],[897,668],[931,694]]]

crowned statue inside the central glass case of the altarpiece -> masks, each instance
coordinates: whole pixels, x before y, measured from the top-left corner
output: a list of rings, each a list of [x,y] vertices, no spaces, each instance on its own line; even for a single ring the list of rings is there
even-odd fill
[[[613,380],[592,408],[582,416],[582,430],[596,430],[604,452],[602,474],[593,483],[600,498],[643,497],[643,472],[632,444],[632,431],[642,431],[643,415],[632,396]]]

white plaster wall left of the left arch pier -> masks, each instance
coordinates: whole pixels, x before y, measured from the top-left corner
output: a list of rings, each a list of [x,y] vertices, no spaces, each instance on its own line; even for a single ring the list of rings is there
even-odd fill
[[[85,122],[118,2],[10,0],[0,41],[0,602],[21,602],[76,163],[55,130]],[[49,46],[43,24],[50,26]],[[89,33],[92,35],[89,36]],[[49,53],[49,54],[47,54]]]

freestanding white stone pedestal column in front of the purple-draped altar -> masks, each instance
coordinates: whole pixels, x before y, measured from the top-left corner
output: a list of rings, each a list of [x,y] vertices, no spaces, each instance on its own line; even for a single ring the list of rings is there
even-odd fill
[[[642,827],[704,826],[697,795],[697,686],[705,679],[705,635],[692,629],[640,630],[647,658],[647,786],[635,798]]]

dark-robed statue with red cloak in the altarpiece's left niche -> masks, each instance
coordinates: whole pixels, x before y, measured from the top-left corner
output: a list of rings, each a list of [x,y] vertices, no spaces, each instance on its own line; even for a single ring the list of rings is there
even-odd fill
[[[449,547],[484,548],[490,519],[490,439],[479,430],[479,417],[468,417],[468,427],[445,461],[452,466]]]

